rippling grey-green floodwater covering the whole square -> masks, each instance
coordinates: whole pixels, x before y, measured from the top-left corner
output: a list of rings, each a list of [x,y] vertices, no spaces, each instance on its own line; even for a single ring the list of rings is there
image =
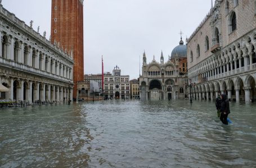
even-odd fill
[[[0,167],[255,167],[256,104],[106,100],[0,108]]]

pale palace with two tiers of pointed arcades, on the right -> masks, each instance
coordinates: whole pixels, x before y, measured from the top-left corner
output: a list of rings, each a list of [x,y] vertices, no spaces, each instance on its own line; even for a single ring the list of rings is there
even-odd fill
[[[256,1],[217,0],[187,41],[194,99],[256,99]]]

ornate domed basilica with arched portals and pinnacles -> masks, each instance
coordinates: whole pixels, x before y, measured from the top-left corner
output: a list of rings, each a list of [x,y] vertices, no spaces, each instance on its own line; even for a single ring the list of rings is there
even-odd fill
[[[170,100],[187,97],[187,46],[182,38],[167,62],[161,52],[160,63],[147,63],[143,53],[142,75],[139,78],[141,100]]]

